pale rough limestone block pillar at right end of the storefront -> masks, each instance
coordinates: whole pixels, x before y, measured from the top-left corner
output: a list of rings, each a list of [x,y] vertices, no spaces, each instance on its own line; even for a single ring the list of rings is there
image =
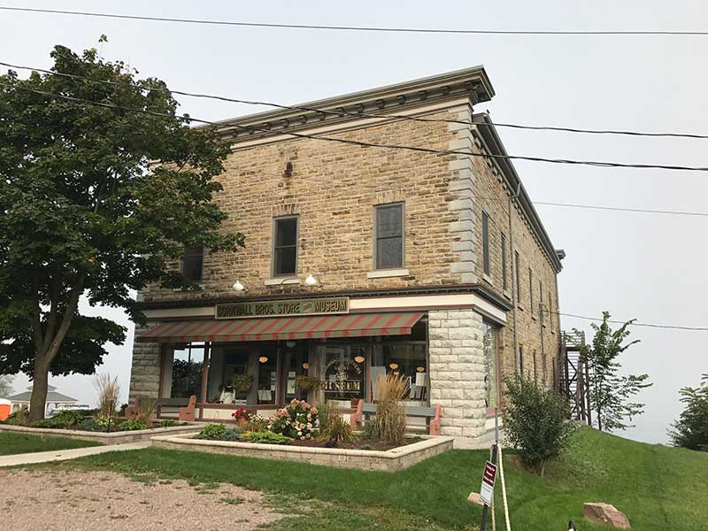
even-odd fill
[[[473,310],[428,312],[430,402],[443,406],[442,434],[485,431],[482,318]]]

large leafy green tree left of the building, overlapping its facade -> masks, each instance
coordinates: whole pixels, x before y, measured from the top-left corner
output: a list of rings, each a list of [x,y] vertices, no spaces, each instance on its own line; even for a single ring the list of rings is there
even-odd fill
[[[33,419],[49,372],[93,373],[104,344],[125,339],[81,315],[81,296],[142,323],[132,290],[196,289],[177,271],[185,245],[243,244],[212,203],[227,145],[189,127],[165,82],[95,49],[51,57],[68,76],[0,76],[0,373],[33,378]]]

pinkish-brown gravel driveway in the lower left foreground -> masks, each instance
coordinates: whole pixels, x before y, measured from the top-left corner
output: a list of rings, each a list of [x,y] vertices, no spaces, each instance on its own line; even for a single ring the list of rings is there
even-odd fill
[[[283,518],[234,485],[152,485],[109,472],[0,470],[0,528],[10,531],[223,531]]]

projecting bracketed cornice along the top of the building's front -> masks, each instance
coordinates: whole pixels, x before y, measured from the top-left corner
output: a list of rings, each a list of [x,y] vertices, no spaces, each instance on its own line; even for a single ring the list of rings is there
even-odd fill
[[[225,119],[217,122],[217,127],[220,135],[232,144],[238,144],[312,127],[339,125],[361,119],[362,115],[371,117],[410,112],[461,96],[468,97],[471,104],[489,101],[494,96],[494,89],[483,66],[291,105],[307,107],[313,111],[278,109]]]

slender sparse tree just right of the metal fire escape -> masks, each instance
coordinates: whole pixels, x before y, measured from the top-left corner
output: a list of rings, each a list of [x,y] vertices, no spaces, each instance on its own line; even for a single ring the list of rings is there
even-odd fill
[[[636,415],[643,413],[644,404],[631,402],[640,390],[651,386],[647,380],[648,374],[630,374],[620,376],[620,363],[617,358],[622,352],[639,342],[635,340],[625,344],[630,334],[628,327],[634,320],[629,320],[613,331],[608,324],[609,312],[603,312],[603,322],[600,325],[592,323],[595,335],[592,344],[585,346],[582,356],[589,366],[589,399],[590,408],[596,412],[597,428],[602,431],[626,429],[632,425],[630,421]]]

